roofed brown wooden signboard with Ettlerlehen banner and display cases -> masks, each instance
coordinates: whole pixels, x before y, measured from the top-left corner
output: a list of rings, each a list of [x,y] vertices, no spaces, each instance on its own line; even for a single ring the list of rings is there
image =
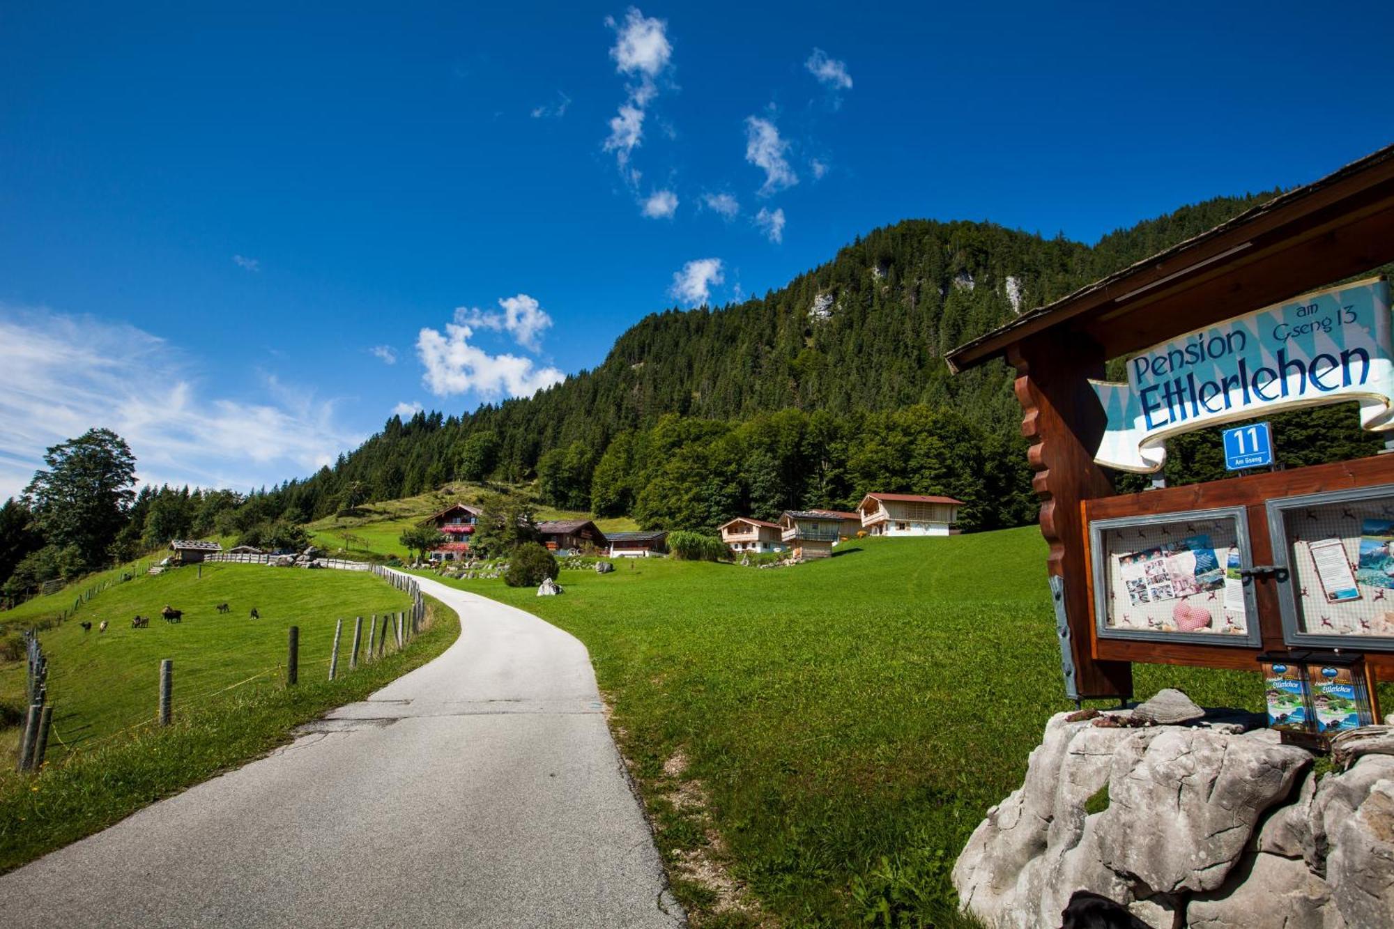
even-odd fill
[[[1394,146],[949,353],[1016,370],[1068,696],[1131,696],[1135,661],[1257,671],[1296,647],[1394,679],[1394,455],[1112,484],[1161,467],[1171,435],[1273,409],[1352,402],[1394,425],[1387,285],[1334,286],[1391,261]]]

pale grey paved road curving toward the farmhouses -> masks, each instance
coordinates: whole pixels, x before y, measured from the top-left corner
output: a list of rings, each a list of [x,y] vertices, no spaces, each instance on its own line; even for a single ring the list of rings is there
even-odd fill
[[[445,654],[0,877],[21,926],[682,926],[585,647],[424,580]]]

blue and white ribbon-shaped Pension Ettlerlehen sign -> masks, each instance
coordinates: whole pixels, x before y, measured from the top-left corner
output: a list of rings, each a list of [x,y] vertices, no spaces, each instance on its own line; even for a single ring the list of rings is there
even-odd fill
[[[1128,360],[1128,384],[1092,382],[1108,416],[1094,460],[1156,471],[1172,435],[1278,410],[1358,400],[1394,428],[1394,342],[1383,278],[1196,329]]]

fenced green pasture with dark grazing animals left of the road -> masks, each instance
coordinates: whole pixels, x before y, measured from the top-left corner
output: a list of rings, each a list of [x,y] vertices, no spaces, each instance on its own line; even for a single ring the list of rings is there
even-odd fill
[[[219,603],[230,612],[216,612]],[[164,604],[184,611],[184,621],[166,624]],[[72,597],[60,607],[71,607]],[[159,663],[174,661],[174,710],[183,713],[241,690],[279,686],[286,661],[286,630],[300,626],[301,677],[325,674],[335,619],[406,610],[408,598],[365,572],[302,571],[263,565],[204,565],[159,576],[138,576],[82,604],[60,626],[40,633],[49,656],[49,699],[54,704],[49,757],[84,749],[155,716]],[[20,614],[29,604],[24,604]],[[261,619],[250,619],[255,607]],[[145,629],[131,629],[137,614],[151,617]],[[105,633],[96,626],[110,625]],[[91,621],[84,632],[78,625]],[[10,635],[17,626],[11,625]],[[259,677],[256,677],[259,675]],[[236,690],[226,690],[254,678]],[[0,664],[0,703],[24,702],[22,661]],[[18,739],[0,730],[0,745]]]

